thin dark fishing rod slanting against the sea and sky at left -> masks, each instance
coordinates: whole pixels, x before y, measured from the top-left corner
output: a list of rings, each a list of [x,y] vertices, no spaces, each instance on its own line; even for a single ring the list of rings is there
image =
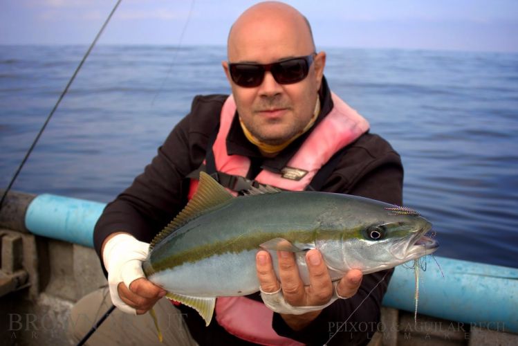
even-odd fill
[[[63,90],[61,95],[59,95],[59,98],[57,99],[57,102],[55,103],[54,108],[48,114],[48,116],[47,116],[43,126],[41,127],[41,129],[39,130],[38,134],[36,135],[36,138],[34,139],[33,144],[30,145],[30,147],[29,147],[29,149],[27,151],[27,154],[25,155],[24,159],[21,161],[21,163],[20,163],[20,165],[18,167],[18,170],[15,172],[15,175],[12,176],[12,179],[11,179],[11,181],[10,181],[6,191],[3,192],[2,199],[0,200],[0,210],[2,209],[3,201],[5,201],[5,199],[7,197],[7,194],[11,190],[12,185],[15,183],[18,175],[21,172],[21,169],[24,167],[27,159],[29,158],[30,154],[33,152],[33,149],[36,147],[36,144],[38,143],[38,140],[41,137],[41,134],[43,134],[43,131],[45,131],[45,129],[46,129],[47,125],[48,125],[48,122],[50,121],[50,118],[52,118],[52,116],[54,115],[57,107],[59,107],[59,104],[61,103],[61,101],[63,100],[65,94],[68,92],[68,89],[70,88],[70,86],[72,85],[73,81],[75,80],[75,76],[77,75],[77,73],[79,73],[79,71],[82,68],[84,62],[86,61],[86,58],[90,55],[90,52],[92,51],[92,49],[95,46],[95,44],[98,42],[98,39],[101,36],[102,32],[104,31],[104,28],[106,28],[106,26],[108,25],[108,22],[110,21],[111,17],[113,16],[113,13],[115,13],[115,10],[117,10],[117,8],[118,8],[118,6],[119,6],[119,4],[121,2],[122,2],[122,0],[118,0],[117,3],[115,3],[115,6],[113,6],[113,9],[111,10],[108,18],[106,19],[106,21],[104,21],[104,24],[102,24],[102,27],[100,28],[98,34],[95,36],[95,39],[93,39],[93,42],[91,43],[90,47],[88,48],[88,50],[84,54],[81,62],[79,63],[79,65],[77,65],[77,68],[75,69],[72,77],[70,78],[70,80],[68,80],[68,83],[66,84],[65,89]]]

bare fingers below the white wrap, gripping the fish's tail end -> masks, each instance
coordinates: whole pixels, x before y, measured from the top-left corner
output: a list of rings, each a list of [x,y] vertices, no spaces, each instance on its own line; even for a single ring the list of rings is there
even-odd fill
[[[117,286],[117,291],[120,300],[135,309],[137,315],[146,313],[166,293],[164,289],[161,289],[144,277],[131,282],[129,289],[124,282],[120,282]]]

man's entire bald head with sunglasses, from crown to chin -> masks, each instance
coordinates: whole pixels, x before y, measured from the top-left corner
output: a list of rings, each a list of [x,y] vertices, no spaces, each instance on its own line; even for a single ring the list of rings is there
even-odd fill
[[[311,58],[313,62],[302,80],[286,82],[282,80],[284,75],[304,71],[302,62],[295,58],[306,62]],[[255,70],[259,75],[246,75],[261,78],[260,84],[243,86],[234,82],[231,66],[235,63],[263,65],[264,71]],[[315,52],[308,21],[295,8],[268,1],[243,12],[228,35],[228,61],[221,62],[243,129],[258,143],[274,146],[286,145],[304,133],[318,111],[325,64],[326,53]]]

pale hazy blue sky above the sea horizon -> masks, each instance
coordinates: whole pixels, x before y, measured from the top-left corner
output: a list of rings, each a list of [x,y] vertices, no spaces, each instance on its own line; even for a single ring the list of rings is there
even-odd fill
[[[0,44],[90,44],[116,2],[0,0]],[[122,0],[99,44],[224,45],[256,2]],[[308,17],[317,47],[518,52],[518,0],[284,2]]]

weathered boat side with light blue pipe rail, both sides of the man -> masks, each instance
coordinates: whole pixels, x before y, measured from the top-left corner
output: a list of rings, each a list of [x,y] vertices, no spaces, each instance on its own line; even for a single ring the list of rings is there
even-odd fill
[[[3,193],[3,192],[2,192]],[[105,204],[9,192],[0,211],[0,312],[5,345],[63,345],[83,295],[107,284],[93,251]],[[435,257],[420,273],[397,266],[370,346],[518,345],[518,268]],[[94,321],[93,321],[94,322]],[[372,328],[330,322],[330,335]],[[370,329],[369,329],[370,330]]]

